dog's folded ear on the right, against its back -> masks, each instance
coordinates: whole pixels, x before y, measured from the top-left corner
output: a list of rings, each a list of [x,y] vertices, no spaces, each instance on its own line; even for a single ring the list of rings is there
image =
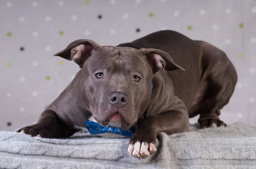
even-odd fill
[[[159,70],[176,70],[181,69],[185,70],[179,65],[177,65],[173,60],[172,57],[164,51],[159,49],[141,49],[140,51],[147,57],[148,62],[150,63],[153,73],[157,73]]]

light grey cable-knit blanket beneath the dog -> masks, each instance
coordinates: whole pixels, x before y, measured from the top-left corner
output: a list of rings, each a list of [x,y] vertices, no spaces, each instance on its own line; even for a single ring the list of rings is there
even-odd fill
[[[160,134],[157,153],[137,159],[128,139],[77,133],[68,139],[0,132],[0,168],[8,169],[256,169],[256,128],[240,122],[174,135]]]

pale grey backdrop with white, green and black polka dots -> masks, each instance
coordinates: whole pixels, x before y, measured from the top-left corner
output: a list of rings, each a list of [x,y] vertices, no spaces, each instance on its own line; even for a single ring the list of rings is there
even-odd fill
[[[118,45],[165,29],[227,53],[239,80],[221,118],[256,126],[256,0],[1,0],[0,23],[0,130],[35,123],[72,81],[78,66],[52,55],[73,40]]]

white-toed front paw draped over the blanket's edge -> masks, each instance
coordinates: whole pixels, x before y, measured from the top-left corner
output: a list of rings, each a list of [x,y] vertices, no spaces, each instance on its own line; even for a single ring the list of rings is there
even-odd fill
[[[137,133],[131,136],[128,152],[136,158],[146,158],[157,151],[157,136],[150,132]]]

